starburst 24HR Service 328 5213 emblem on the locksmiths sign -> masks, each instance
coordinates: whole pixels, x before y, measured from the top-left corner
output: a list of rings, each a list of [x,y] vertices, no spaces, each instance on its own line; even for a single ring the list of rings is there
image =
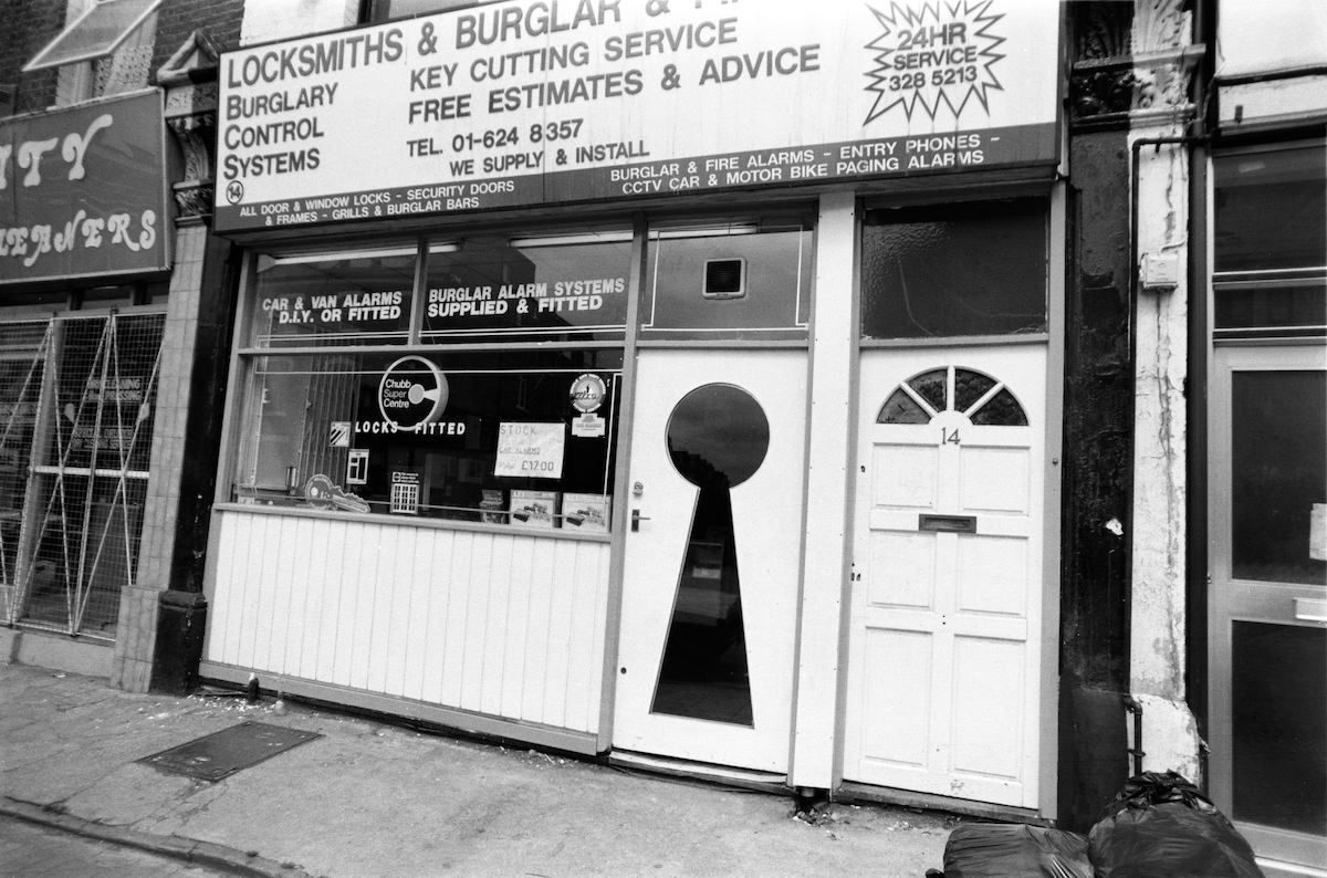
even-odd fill
[[[881,32],[867,44],[874,61],[867,92],[876,98],[863,125],[889,113],[936,119],[942,107],[957,119],[970,105],[989,114],[990,93],[1003,90],[995,70],[1005,58],[1005,16],[994,9],[995,0],[871,7]]]

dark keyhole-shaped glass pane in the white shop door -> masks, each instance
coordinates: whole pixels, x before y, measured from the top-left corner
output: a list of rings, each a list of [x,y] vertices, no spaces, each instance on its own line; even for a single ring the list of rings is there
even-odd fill
[[[752,725],[730,491],[770,450],[770,420],[733,385],[703,385],[673,408],[667,451],[699,488],[652,711]]]

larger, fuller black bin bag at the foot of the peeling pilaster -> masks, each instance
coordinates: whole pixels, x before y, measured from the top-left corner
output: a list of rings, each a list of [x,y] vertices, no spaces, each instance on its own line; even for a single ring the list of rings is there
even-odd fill
[[[1088,833],[1097,878],[1262,878],[1253,849],[1174,772],[1131,777]]]

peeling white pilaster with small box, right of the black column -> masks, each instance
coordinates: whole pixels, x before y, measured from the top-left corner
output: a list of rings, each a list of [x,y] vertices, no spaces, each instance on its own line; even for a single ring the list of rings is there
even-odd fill
[[[1192,68],[1200,54],[1190,44],[1190,17],[1181,0],[1139,0],[1132,31],[1137,280],[1129,690],[1143,708],[1144,769],[1173,769],[1201,783],[1201,741],[1184,683],[1192,145],[1182,138],[1194,117]],[[1144,260],[1169,260],[1176,282],[1143,277]]]

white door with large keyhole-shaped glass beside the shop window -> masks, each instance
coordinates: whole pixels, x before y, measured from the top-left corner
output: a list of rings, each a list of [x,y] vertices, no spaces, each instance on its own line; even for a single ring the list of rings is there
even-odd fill
[[[613,745],[787,771],[805,357],[642,351]]]

